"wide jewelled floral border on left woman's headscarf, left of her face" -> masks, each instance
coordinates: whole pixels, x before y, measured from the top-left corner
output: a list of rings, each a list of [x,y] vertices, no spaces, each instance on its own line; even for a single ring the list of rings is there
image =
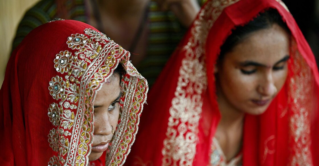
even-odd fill
[[[54,59],[54,68],[64,77],[52,77],[48,87],[57,100],[48,109],[50,121],[57,127],[50,131],[48,141],[58,152],[49,165],[87,165],[93,138],[94,91],[126,52],[104,34],[92,29],[84,33],[68,37],[66,44],[74,51],[61,51]]]

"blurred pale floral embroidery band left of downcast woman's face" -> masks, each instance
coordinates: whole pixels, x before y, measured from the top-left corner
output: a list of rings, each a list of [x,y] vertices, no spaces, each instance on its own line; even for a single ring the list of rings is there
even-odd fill
[[[170,117],[162,148],[162,165],[190,166],[196,153],[198,121],[203,105],[202,93],[206,90],[207,78],[204,67],[204,46],[208,30],[223,9],[239,0],[209,1],[195,21],[191,30],[193,38],[184,46],[186,53],[179,70],[175,97],[169,109]],[[206,14],[209,13],[209,14]],[[214,14],[211,14],[214,13]],[[196,47],[200,45],[200,47]],[[189,95],[186,95],[189,94]]]

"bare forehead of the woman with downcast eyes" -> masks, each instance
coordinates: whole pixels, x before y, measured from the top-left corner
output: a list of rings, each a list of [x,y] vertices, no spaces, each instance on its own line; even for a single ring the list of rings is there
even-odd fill
[[[225,56],[238,61],[271,65],[289,54],[289,34],[277,24],[248,34]]]

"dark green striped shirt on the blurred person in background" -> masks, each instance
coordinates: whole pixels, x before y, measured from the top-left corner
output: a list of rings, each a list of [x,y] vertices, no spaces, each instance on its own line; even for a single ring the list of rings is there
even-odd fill
[[[87,23],[87,7],[85,0],[66,0],[66,14],[69,18]],[[58,11],[56,0],[41,0],[29,9],[19,23],[12,50],[34,28],[55,18],[63,18],[63,11]],[[147,13],[149,23],[148,47],[145,58],[135,65],[144,76],[150,87],[165,66],[175,47],[182,39],[184,28],[171,11],[160,11],[155,0],[149,5]]]

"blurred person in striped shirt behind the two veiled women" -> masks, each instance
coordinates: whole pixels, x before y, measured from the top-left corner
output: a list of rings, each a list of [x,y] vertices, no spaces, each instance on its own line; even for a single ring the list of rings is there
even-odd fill
[[[54,18],[85,22],[131,52],[150,86],[205,0],[41,0],[22,18],[12,49]]]

